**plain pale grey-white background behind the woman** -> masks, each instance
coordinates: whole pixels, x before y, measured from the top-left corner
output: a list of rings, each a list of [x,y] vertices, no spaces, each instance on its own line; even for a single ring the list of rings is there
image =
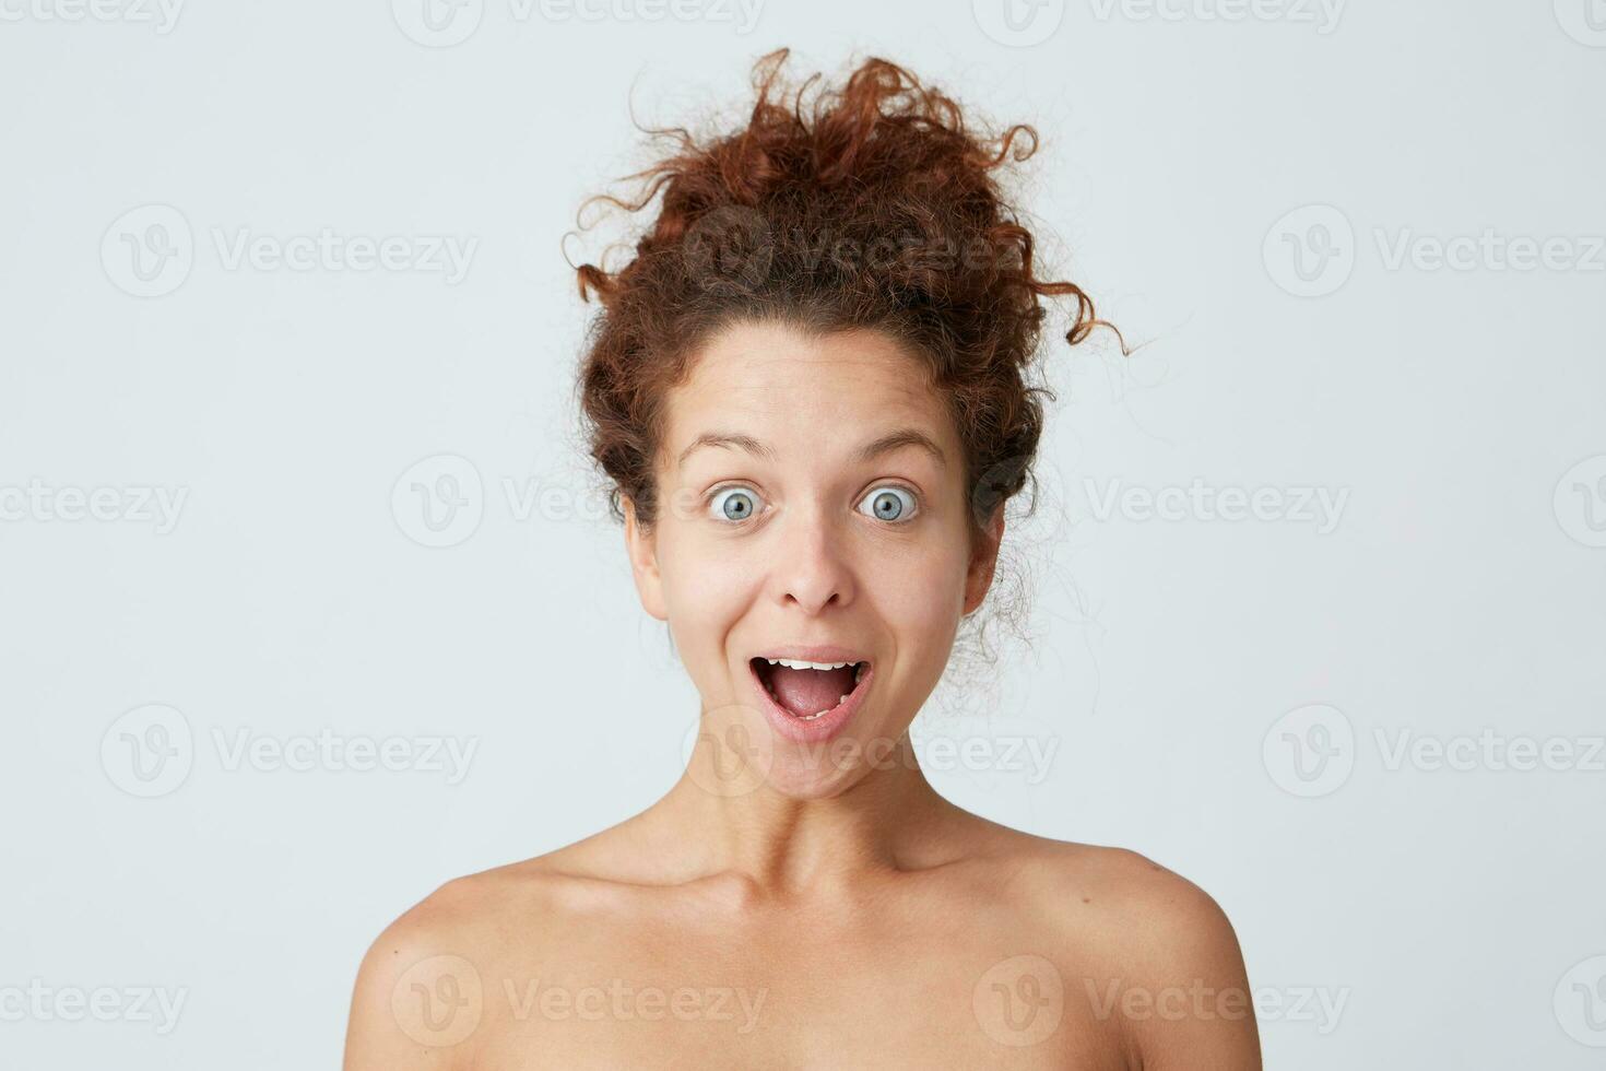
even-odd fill
[[[0,1063],[331,1066],[390,918],[671,784],[697,697],[572,430],[562,242],[650,159],[633,106],[734,117],[779,45],[1034,124],[1042,252],[1148,344],[1046,336],[1007,562],[1033,641],[951,705],[1054,758],[940,790],[1213,893],[1267,1066],[1606,1060],[1600,0],[1071,0],[1020,34],[991,0],[475,0],[434,35],[408,0],[67,3],[0,0],[0,991],[185,1004],[167,1032],[0,1004]],[[141,283],[153,223],[191,259]],[[320,228],[474,246],[461,279],[226,255]],[[1547,239],[1548,268],[1500,247]],[[432,535],[411,485],[453,474],[467,527]],[[1129,496],[1195,480],[1283,509]],[[96,519],[72,488],[116,495]],[[1319,491],[1336,523],[1294,507]],[[162,729],[169,766],[135,766]],[[475,750],[461,777],[233,761],[324,731]],[[1518,739],[1571,764],[1513,769]]]

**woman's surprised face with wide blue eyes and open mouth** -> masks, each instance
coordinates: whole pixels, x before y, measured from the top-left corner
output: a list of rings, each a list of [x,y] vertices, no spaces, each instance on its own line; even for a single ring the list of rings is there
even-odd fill
[[[626,503],[642,605],[716,747],[789,796],[904,761],[893,745],[993,580],[1002,514],[972,552],[964,454],[925,377],[880,332],[731,326],[668,397],[650,533]],[[854,682],[766,655],[869,665]]]

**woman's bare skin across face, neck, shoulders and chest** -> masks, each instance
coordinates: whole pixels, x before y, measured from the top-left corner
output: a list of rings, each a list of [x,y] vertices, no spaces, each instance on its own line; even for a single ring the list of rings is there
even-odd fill
[[[917,435],[861,458],[895,432]],[[650,530],[626,501],[625,541],[703,700],[692,761],[641,814],[448,882],[385,928],[347,1071],[1261,1068],[1208,894],[962,811],[915,761],[909,723],[986,596],[1004,517],[970,544],[960,443],[909,355],[874,331],[728,328],[670,395],[657,487]],[[896,520],[874,504],[888,487]],[[747,658],[782,644],[875,666],[834,748],[760,711]]]

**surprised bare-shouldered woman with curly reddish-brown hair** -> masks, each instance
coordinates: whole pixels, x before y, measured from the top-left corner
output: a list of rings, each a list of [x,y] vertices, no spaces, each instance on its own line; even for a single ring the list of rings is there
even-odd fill
[[[1036,456],[1041,299],[1102,323],[993,173],[1034,132],[882,59],[785,106],[785,58],[638,175],[631,263],[578,270],[593,456],[702,695],[686,772],[392,923],[345,1066],[1257,1068],[1204,893],[968,814],[911,750]]]

